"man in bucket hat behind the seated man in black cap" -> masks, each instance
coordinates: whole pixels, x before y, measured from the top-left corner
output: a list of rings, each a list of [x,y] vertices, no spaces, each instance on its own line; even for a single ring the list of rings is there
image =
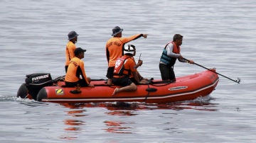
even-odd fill
[[[70,33],[68,33],[68,43],[66,45],[66,50],[65,50],[65,57],[66,57],[66,61],[65,61],[65,72],[67,73],[68,70],[68,64],[70,64],[70,59],[73,59],[73,57],[75,57],[75,43],[78,42],[78,33],[76,33],[75,31],[70,31]]]

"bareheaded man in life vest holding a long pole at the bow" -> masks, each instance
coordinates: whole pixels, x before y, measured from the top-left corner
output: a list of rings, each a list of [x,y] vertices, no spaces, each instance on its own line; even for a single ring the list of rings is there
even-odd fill
[[[185,60],[181,56],[181,45],[182,45],[183,36],[180,34],[175,34],[173,41],[166,44],[162,52],[159,69],[161,72],[161,79],[163,81],[176,81],[174,74],[174,64],[176,59],[179,62],[188,62],[193,64],[193,60]]]

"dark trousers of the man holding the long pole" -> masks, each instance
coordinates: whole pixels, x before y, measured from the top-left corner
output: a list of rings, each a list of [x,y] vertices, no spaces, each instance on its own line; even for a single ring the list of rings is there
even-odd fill
[[[175,74],[174,74],[174,66],[159,64],[159,69],[161,72],[161,79],[163,81],[176,81]]]

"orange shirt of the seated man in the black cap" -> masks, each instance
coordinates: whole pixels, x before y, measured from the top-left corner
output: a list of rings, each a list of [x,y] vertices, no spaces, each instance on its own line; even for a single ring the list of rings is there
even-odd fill
[[[78,57],[74,57],[70,60],[70,64],[68,64],[68,71],[65,75],[65,81],[68,82],[76,82],[80,80],[80,75],[82,79],[85,79],[86,83],[89,84],[87,81],[87,76],[85,74],[85,65],[84,62],[79,59]]]

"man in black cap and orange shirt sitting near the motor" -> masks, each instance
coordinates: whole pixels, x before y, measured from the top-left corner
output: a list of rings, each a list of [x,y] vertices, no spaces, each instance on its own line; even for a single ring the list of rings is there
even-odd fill
[[[66,86],[94,86],[93,84],[90,84],[91,79],[86,76],[84,62],[81,60],[85,56],[85,51],[86,50],[83,50],[81,47],[75,49],[75,57],[70,60],[68,71],[65,75]],[[82,76],[82,79],[80,79],[80,76]]]

